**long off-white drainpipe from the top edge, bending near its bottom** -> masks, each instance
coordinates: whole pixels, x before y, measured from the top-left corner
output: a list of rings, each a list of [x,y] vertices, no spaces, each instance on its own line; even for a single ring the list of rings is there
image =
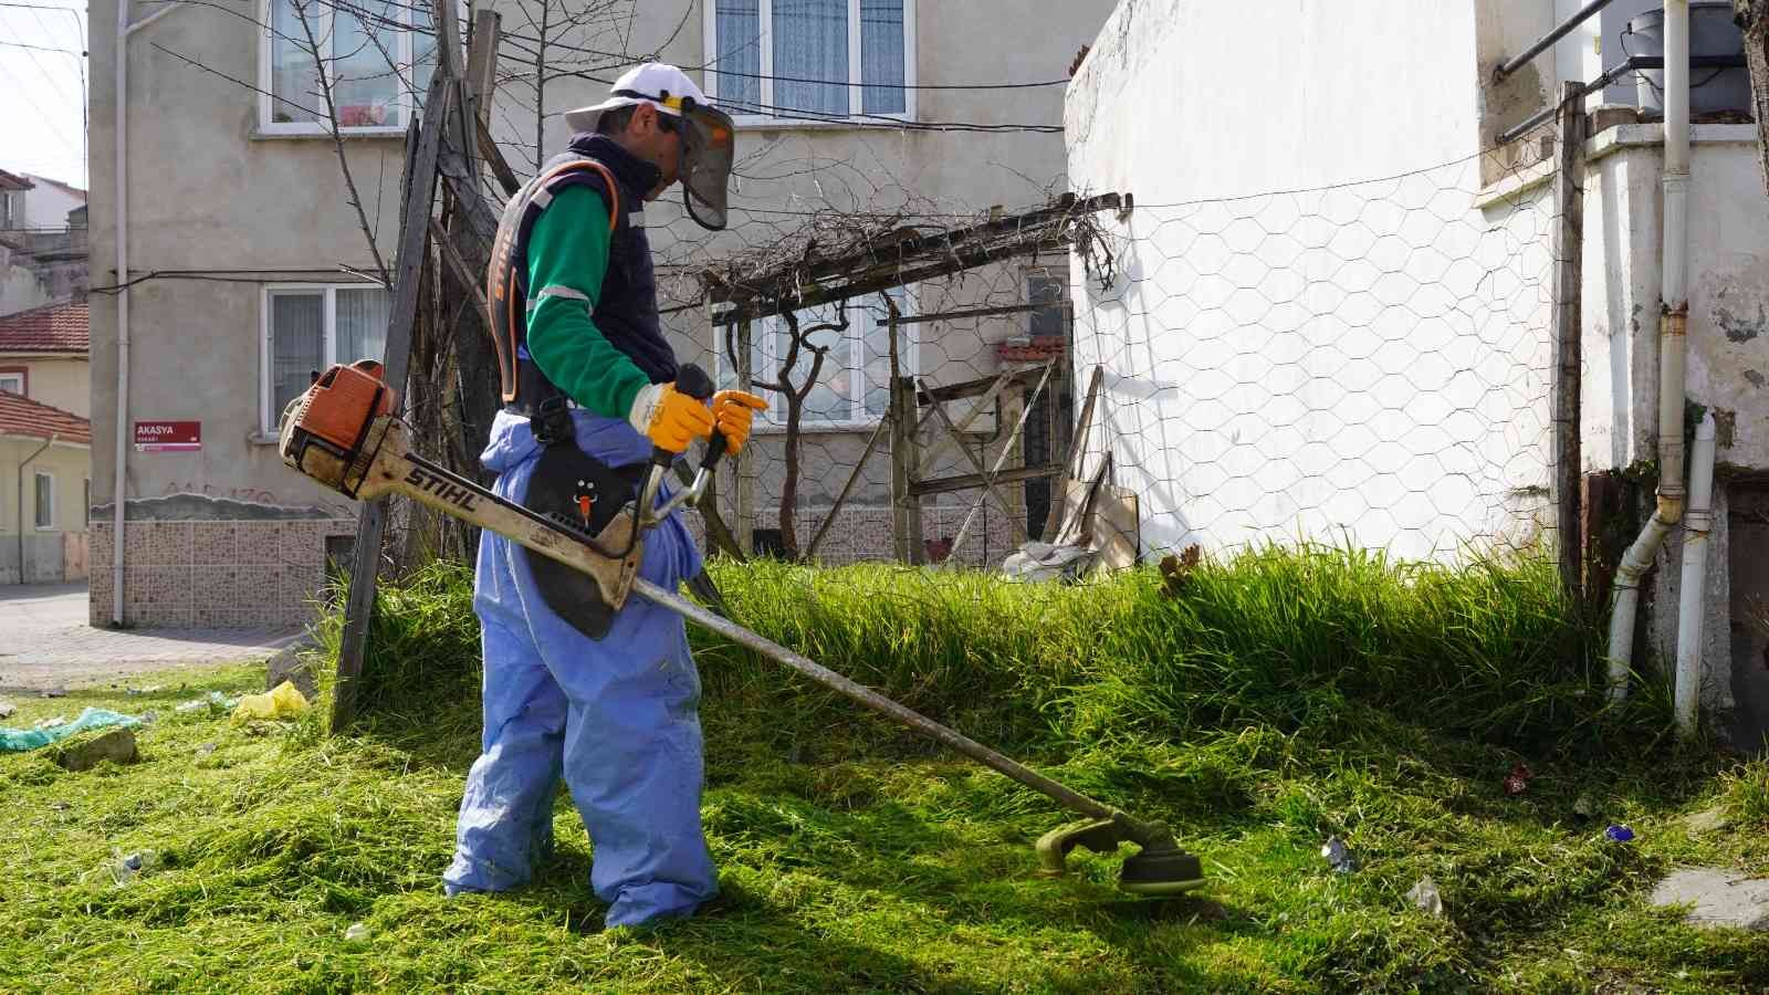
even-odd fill
[[[1689,0],[1665,0],[1665,246],[1659,278],[1659,487],[1658,510],[1615,570],[1610,616],[1610,699],[1627,698],[1640,575],[1652,567],[1665,533],[1682,521],[1682,400],[1689,292]]]

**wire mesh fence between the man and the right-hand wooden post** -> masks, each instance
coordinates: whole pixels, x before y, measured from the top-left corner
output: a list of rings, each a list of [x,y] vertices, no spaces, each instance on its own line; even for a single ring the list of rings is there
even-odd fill
[[[1143,556],[1327,540],[1444,558],[1527,544],[1553,524],[1558,218],[1541,182],[1495,195],[1497,161],[1187,204],[1123,198],[1065,218],[1061,244],[980,266],[953,251],[946,271],[846,308],[724,324],[706,324],[706,310],[720,322],[718,303],[685,310],[706,324],[690,335],[716,351],[724,381],[747,361],[773,404],[743,473],[722,482],[720,515],[757,552],[999,567],[1053,538],[1070,478],[1104,476]],[[775,266],[750,273],[840,294],[860,267],[925,271],[918,255],[893,257],[906,232],[938,239],[991,220],[860,214],[821,241],[750,250]],[[831,273],[840,260],[849,269]],[[711,287],[683,296],[706,305],[720,297]]]

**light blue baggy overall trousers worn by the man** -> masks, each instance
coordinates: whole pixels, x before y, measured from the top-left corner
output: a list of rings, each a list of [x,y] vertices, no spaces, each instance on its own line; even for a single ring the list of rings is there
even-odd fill
[[[573,411],[577,444],[609,466],[649,459],[626,421]],[[541,446],[499,413],[479,457],[522,501]],[[665,590],[701,572],[679,513],[644,536],[639,575]],[[467,774],[449,894],[529,880],[552,843],[559,781],[594,843],[589,875],[609,926],[686,915],[718,891],[701,830],[701,676],[683,620],[632,597],[601,641],[550,613],[524,551],[485,531],[474,575],[485,650],[483,754]]]

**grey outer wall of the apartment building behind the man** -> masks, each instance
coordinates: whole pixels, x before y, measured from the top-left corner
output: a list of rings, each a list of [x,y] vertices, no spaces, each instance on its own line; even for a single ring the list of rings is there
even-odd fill
[[[90,9],[94,23],[115,23],[115,0],[97,0]],[[499,4],[506,32],[532,32],[515,4]],[[1022,7],[1008,0],[984,4],[915,4],[916,80],[922,83],[1026,81],[1063,78],[1076,51],[1093,39],[1104,21],[1109,0],[1051,5],[1038,18],[1015,16]],[[683,66],[706,62],[699,5],[683,21],[681,9],[640,4],[623,25],[621,42],[630,51],[660,51],[662,58]],[[136,11],[138,19],[147,11]],[[681,27],[678,32],[676,28]],[[202,421],[203,446],[191,453],[127,453],[127,517],[147,547],[143,561],[152,568],[195,570],[218,563],[191,559],[196,547],[219,549],[198,535],[189,540],[179,522],[262,521],[260,531],[301,535],[324,542],[348,533],[354,506],[320,490],[281,466],[271,439],[258,434],[258,377],[262,363],[262,285],[249,280],[348,283],[340,271],[371,266],[347,189],[340,177],[333,143],[324,138],[269,138],[258,133],[257,96],[214,73],[195,69],[154,46],[191,57],[203,66],[255,80],[258,73],[257,30],[249,18],[230,16],[214,7],[182,7],[152,27],[136,32],[129,42],[129,253],[131,276],[149,269],[200,271],[235,282],[159,278],[138,283],[129,292],[131,308],[131,420]],[[609,50],[612,37],[568,37],[573,44]],[[90,248],[92,280],[117,280],[115,241],[115,94],[117,58],[113,32],[94,32],[90,87]],[[502,69],[522,73],[502,53]],[[547,89],[543,156],[555,154],[566,142],[559,112],[594,103],[605,96],[605,83],[557,80]],[[1021,90],[923,90],[918,92],[918,119],[982,124],[1060,124],[1061,87]],[[492,120],[494,136],[522,172],[534,165],[532,94],[520,81],[499,90]],[[525,145],[525,147],[524,147]],[[400,138],[361,138],[345,142],[348,161],[363,193],[364,207],[377,227],[377,246],[391,257],[398,230]],[[732,228],[709,237],[681,218],[679,193],[647,209],[647,227],[663,266],[665,294],[679,289],[672,273],[681,266],[750,244],[771,244],[805,221],[807,211],[823,207],[888,211],[913,202],[920,211],[948,211],[966,216],[991,205],[1019,207],[1042,204],[1047,191],[1065,189],[1063,142],[1049,133],[923,133],[862,129],[846,124],[745,127],[738,140],[739,179],[734,184]],[[244,282],[241,282],[244,280]],[[930,292],[946,306],[959,306],[976,296],[1012,290],[1022,297],[1017,271],[1005,273],[980,290],[941,289]],[[665,301],[667,303],[667,301]],[[996,301],[1003,303],[1003,301]],[[106,505],[113,494],[111,453],[117,423],[117,306],[119,297],[92,299],[92,421],[94,501]],[[672,342],[683,359],[709,361],[711,329],[701,312],[667,319]],[[939,338],[929,329],[938,349],[929,351],[922,366],[932,382],[969,379],[994,370],[989,336],[1014,331],[998,322],[989,331],[964,328],[961,335]],[[936,366],[939,366],[936,370]],[[853,434],[831,434],[819,441],[828,453],[847,453],[863,444]],[[778,450],[778,437],[761,439],[755,451]],[[837,457],[839,459],[839,457]],[[948,457],[948,462],[955,459]],[[762,464],[762,492],[778,485],[780,460]],[[816,492],[828,501],[837,476],[830,460],[819,460],[812,474]],[[879,464],[884,466],[883,462]],[[883,478],[881,478],[883,480]],[[773,490],[770,490],[773,489]],[[862,501],[877,499],[869,489]],[[807,505],[816,498],[807,494]],[[764,515],[766,515],[764,506]],[[257,517],[255,517],[257,515]],[[281,522],[281,524],[276,524]],[[325,522],[315,528],[311,522]],[[762,522],[768,524],[768,522]],[[290,531],[295,529],[295,531]],[[211,529],[212,531],[212,529]],[[165,536],[161,536],[165,533]],[[308,535],[311,533],[311,536]],[[161,542],[161,538],[165,542]],[[808,538],[808,533],[807,533]],[[191,545],[195,542],[196,545]],[[216,540],[223,542],[223,540]],[[295,540],[290,540],[295,542]],[[306,542],[306,540],[301,540]],[[134,538],[126,552],[136,549]],[[225,544],[225,542],[223,542]],[[257,547],[285,549],[283,538],[257,542]],[[157,552],[154,552],[157,551]],[[94,544],[94,611],[110,613],[110,545]],[[129,561],[136,563],[134,554]],[[280,554],[274,563],[281,575],[317,579],[317,567],[295,563]],[[311,570],[310,570],[311,567]],[[294,574],[290,574],[294,570]],[[310,577],[311,574],[311,577]],[[173,574],[156,574],[159,581]],[[166,581],[172,582],[172,581]],[[313,581],[317,582],[317,581]],[[211,584],[225,588],[225,584]],[[207,590],[207,588],[205,588]],[[193,600],[134,604],[134,609],[163,614],[172,621],[198,611]],[[198,598],[203,600],[203,598]],[[103,602],[103,605],[101,605]],[[207,602],[205,602],[207,604]],[[168,607],[170,605],[170,607]],[[103,611],[101,611],[103,609]],[[207,609],[205,609],[207,611]],[[221,609],[234,621],[251,605],[228,602]]]

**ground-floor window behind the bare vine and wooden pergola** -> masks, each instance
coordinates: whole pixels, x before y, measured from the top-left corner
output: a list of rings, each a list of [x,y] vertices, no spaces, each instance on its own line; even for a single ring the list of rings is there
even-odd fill
[[[909,313],[907,294],[893,289],[892,299],[902,313]],[[796,312],[800,333],[816,347],[828,347],[817,384],[805,395],[801,425],[807,428],[851,428],[876,425],[890,409],[890,315],[876,294],[865,303],[847,303],[846,329],[808,331],[817,324],[833,324],[840,313],[837,305],[823,305]],[[915,331],[916,326],[899,329],[899,365],[904,375],[916,372]],[[716,347],[720,361],[720,386],[732,388],[738,382],[731,370],[724,329],[718,329]],[[736,342],[736,333],[732,333]],[[750,340],[750,370],[757,381],[775,381],[780,375],[780,363],[785,361],[793,347],[793,333],[785,319],[770,317],[755,322]],[[787,375],[794,388],[803,386],[810,375],[814,356],[800,349],[793,372]],[[785,398],[775,391],[757,390],[768,398],[768,411],[761,416],[766,425],[785,425]]]

